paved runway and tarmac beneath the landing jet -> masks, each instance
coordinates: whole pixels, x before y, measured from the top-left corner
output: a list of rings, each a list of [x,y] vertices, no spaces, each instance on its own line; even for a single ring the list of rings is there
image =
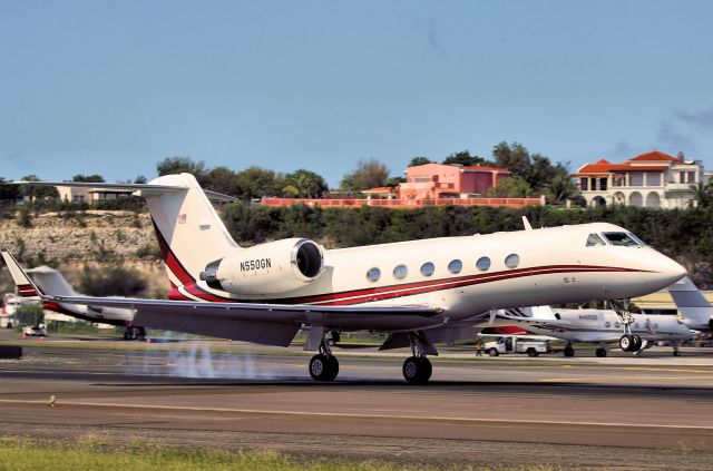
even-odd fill
[[[433,360],[430,384],[412,386],[402,359],[365,350],[338,351],[340,375],[325,384],[309,379],[297,349],[87,344],[30,341],[25,360],[0,362],[0,433],[432,465],[713,465],[710,349],[680,359],[665,349],[642,359],[451,350]]]

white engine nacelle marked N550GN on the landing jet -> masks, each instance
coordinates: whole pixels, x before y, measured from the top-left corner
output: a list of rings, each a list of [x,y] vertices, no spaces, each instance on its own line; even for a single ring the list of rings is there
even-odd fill
[[[324,268],[322,247],[306,238],[286,238],[243,248],[211,262],[201,279],[233,294],[281,294],[314,281]]]

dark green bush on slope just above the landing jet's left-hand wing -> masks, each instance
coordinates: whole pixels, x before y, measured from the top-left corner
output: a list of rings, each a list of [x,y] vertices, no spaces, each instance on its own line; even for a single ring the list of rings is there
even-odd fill
[[[88,296],[143,296],[147,287],[140,272],[120,266],[89,268],[85,266],[79,275],[78,291]]]

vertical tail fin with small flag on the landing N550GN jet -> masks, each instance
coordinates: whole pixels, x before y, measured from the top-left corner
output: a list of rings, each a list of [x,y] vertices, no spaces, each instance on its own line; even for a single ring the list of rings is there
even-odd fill
[[[240,248],[193,175],[166,175],[149,185],[182,188],[140,192],[146,198],[168,277],[174,284],[198,279],[206,264]]]

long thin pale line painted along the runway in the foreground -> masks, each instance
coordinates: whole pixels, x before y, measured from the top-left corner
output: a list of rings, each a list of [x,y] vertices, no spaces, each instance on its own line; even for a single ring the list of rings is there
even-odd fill
[[[32,404],[47,406],[47,401],[43,400],[20,400],[20,399],[0,399],[0,404]],[[120,404],[120,403],[96,403],[96,402],[79,402],[79,401],[62,401],[58,403],[61,405],[75,405],[81,408],[116,408],[116,409],[133,409],[133,410],[159,410],[159,411],[175,411],[175,412],[216,412],[216,413],[238,413],[238,414],[266,414],[266,415],[292,415],[292,416],[320,416],[320,418],[342,418],[342,419],[388,419],[388,420],[418,420],[418,421],[450,421],[462,423],[502,423],[502,424],[531,424],[531,425],[577,425],[577,426],[617,426],[617,428],[658,428],[671,430],[710,430],[713,431],[713,425],[671,425],[671,424],[657,424],[657,423],[615,423],[615,422],[575,422],[575,421],[550,421],[550,420],[502,420],[502,419],[477,419],[477,418],[448,418],[448,416],[433,416],[433,415],[385,415],[385,414],[350,414],[343,412],[306,412],[306,411],[268,411],[261,409],[223,409],[223,408],[196,408],[196,406],[174,406],[174,405],[141,405],[141,404]]]

